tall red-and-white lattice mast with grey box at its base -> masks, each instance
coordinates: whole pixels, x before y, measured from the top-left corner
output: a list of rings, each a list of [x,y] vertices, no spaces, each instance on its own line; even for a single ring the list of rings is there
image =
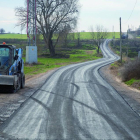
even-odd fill
[[[26,63],[37,63],[36,0],[27,0],[27,37]]]

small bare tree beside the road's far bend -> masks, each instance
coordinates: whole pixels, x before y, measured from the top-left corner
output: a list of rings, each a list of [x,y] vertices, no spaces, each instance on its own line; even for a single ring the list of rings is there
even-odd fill
[[[98,47],[97,53],[99,53],[100,45],[103,42],[103,39],[108,37],[108,31],[102,25],[96,26],[96,32],[94,32],[93,27],[90,27],[90,35],[94,44]]]

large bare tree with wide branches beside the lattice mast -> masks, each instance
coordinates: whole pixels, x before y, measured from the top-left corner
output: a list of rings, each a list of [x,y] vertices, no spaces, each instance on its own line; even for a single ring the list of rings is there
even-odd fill
[[[78,18],[78,0],[36,0],[37,2],[37,29],[43,35],[46,46],[49,48],[51,56],[55,55],[55,44],[53,35],[63,32],[66,26],[71,29],[76,26]],[[18,25],[22,28],[27,23],[27,10],[23,7],[15,9],[19,18]],[[57,41],[56,41],[57,42]]]

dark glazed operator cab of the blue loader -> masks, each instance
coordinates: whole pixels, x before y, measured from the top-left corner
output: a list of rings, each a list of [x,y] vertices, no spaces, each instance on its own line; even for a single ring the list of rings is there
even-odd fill
[[[8,75],[16,56],[16,47],[13,45],[0,45],[0,75]]]

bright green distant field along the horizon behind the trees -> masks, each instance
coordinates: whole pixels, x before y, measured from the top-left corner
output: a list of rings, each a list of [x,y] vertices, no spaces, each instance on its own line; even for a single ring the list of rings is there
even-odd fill
[[[77,33],[75,33],[75,39],[77,38]],[[108,39],[112,38],[112,32],[109,32]],[[119,32],[115,32],[115,38],[120,38]],[[0,39],[27,39],[26,34],[0,34]],[[81,32],[80,39],[92,39],[90,36],[90,32]]]

